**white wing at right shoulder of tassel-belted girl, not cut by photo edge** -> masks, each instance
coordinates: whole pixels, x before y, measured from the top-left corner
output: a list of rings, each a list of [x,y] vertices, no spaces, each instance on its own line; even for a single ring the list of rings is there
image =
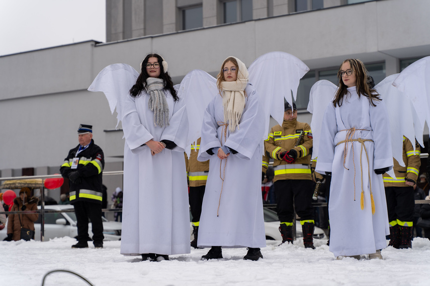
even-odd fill
[[[392,83],[398,74],[387,76],[383,81],[375,86],[375,89],[381,95],[388,110],[391,131],[391,147],[393,158],[397,160],[400,166],[405,166],[403,162],[403,136],[407,137],[415,148],[415,136],[417,135],[415,127],[420,123],[415,122],[414,126],[414,109],[411,101],[406,94],[395,88]],[[420,129],[420,128],[417,128]],[[422,133],[421,133],[422,137]],[[394,169],[387,172],[388,175],[395,178]]]

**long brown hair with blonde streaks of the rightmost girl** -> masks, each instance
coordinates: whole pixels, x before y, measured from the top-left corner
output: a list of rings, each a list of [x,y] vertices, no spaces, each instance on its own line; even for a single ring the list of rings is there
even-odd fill
[[[377,93],[376,89],[373,89],[373,87],[371,87],[367,82],[368,81],[368,72],[367,72],[367,69],[366,69],[364,63],[360,60],[357,60],[357,59],[348,59],[348,60],[345,60],[342,62],[342,64],[339,67],[339,71],[342,68],[342,65],[346,62],[350,63],[351,69],[353,70],[353,73],[357,77],[356,88],[357,88],[357,93],[358,93],[359,97],[361,95],[368,97],[370,103],[373,106],[376,106],[374,101],[375,100],[379,101],[379,100],[381,100],[381,98],[379,97],[379,94]],[[336,92],[336,96],[334,97],[334,100],[333,100],[334,106],[342,105],[343,98],[348,93],[348,90],[347,90],[348,86],[346,86],[345,83],[343,83],[342,77],[340,76],[339,73],[337,73],[337,78],[339,79],[339,84],[337,85],[338,89]]]

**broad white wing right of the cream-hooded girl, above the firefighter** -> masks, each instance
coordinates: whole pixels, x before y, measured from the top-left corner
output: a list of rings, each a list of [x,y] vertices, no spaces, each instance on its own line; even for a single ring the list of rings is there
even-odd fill
[[[264,104],[266,130],[269,130],[270,115],[282,124],[284,98],[292,105],[291,92],[295,100],[300,79],[308,71],[309,68],[299,58],[285,52],[264,54],[249,66],[249,82]]]

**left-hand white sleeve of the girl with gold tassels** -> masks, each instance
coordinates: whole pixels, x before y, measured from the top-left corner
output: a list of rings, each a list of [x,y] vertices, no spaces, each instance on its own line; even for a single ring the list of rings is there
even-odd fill
[[[334,160],[334,137],[337,134],[336,112],[333,103],[327,105],[321,123],[321,133],[316,160],[315,172],[325,174],[332,172]]]

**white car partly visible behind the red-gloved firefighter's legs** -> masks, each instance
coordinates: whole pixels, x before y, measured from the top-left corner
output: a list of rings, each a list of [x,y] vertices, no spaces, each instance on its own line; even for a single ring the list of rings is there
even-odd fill
[[[264,228],[266,233],[266,239],[282,241],[281,232],[279,231],[280,221],[277,213],[268,208],[264,208],[263,211],[264,211]],[[191,219],[192,217],[190,214],[190,221]],[[194,236],[193,236],[192,223],[190,223],[190,231],[191,231],[191,240],[193,240]],[[300,221],[296,220],[296,238],[299,238],[299,237],[303,237],[303,231],[302,231],[302,226],[300,225]],[[315,226],[313,238],[327,239],[324,231],[317,226]]]

